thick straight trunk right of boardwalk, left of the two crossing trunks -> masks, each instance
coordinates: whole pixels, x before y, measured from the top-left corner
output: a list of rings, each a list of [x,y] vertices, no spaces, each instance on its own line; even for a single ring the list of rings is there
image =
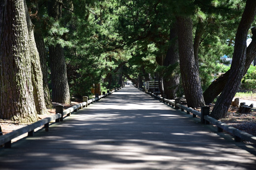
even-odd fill
[[[194,58],[192,20],[190,17],[176,17],[178,25],[179,61],[182,84],[188,107],[205,105],[199,70]]]

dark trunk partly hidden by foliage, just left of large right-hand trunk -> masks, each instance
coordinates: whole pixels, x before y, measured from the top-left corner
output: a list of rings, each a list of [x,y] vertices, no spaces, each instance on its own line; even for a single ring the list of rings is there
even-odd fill
[[[167,54],[164,60],[164,66],[175,65],[179,63],[179,51],[178,51],[178,28],[177,23],[170,29],[170,42],[171,45],[167,50]],[[177,97],[177,90],[179,86],[179,73],[174,72],[173,75],[164,77],[164,94],[167,99],[174,99]]]

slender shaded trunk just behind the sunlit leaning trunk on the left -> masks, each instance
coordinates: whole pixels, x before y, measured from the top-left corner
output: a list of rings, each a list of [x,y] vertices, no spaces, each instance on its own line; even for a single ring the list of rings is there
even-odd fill
[[[51,95],[48,86],[48,67],[45,55],[45,42],[41,32],[34,32],[37,50],[40,57],[40,65],[43,75],[44,99],[47,108],[52,108]]]

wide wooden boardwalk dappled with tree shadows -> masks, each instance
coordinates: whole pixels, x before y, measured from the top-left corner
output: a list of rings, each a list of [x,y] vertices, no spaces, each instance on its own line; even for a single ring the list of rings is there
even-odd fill
[[[0,169],[256,169],[256,156],[241,147],[200,119],[124,87],[49,132],[0,149]]]

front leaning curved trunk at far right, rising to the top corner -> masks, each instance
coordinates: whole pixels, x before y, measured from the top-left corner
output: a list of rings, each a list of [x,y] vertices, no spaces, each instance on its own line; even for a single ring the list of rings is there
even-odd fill
[[[228,108],[237,92],[237,89],[243,77],[246,59],[246,39],[248,35],[248,30],[253,22],[255,14],[256,1],[247,0],[236,33],[234,53],[230,67],[229,78],[211,112],[211,116],[216,119],[226,117]]]

